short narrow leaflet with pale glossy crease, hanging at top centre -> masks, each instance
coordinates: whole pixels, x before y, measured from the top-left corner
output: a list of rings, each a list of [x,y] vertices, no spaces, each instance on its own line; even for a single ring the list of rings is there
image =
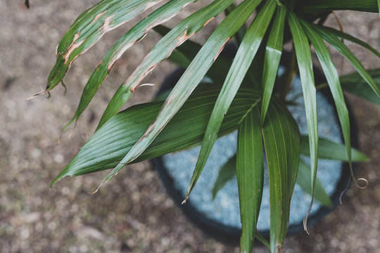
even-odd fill
[[[282,44],[284,40],[284,25],[286,18],[286,8],[277,6],[277,13],[273,21],[272,29],[265,48],[264,72],[262,74],[262,104],[261,122],[264,122],[267,115],[267,108],[272,97],[274,81],[279,70],[281,59]]]

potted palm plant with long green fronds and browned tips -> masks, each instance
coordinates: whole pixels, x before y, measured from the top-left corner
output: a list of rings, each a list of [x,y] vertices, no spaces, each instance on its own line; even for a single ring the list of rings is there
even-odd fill
[[[380,1],[244,0],[236,4],[238,1],[235,0],[210,0],[208,5],[184,18],[174,28],[161,25],[197,1],[165,1],[134,25],[104,56],[89,77],[69,124],[77,121],[113,64],[129,47],[153,29],[163,36],[115,92],[94,136],[51,184],[65,176],[113,168],[103,180],[106,182],[125,164],[148,160],[201,142],[186,202],[217,137],[238,129],[236,174],[242,223],[241,252],[251,252],[255,236],[260,238],[255,227],[262,198],[263,149],[270,175],[270,249],[271,252],[281,252],[298,167],[303,174],[308,172],[307,166],[298,164],[302,150],[306,149],[305,152],[310,154],[311,169],[308,172],[310,179],[302,183],[310,187],[312,196],[321,191],[316,177],[317,159],[323,157],[323,150],[318,153],[321,147],[318,144],[317,89],[328,86],[331,90],[345,141],[345,155],[335,158],[347,160],[350,166],[352,161],[365,158],[356,151],[352,153],[350,148],[350,124],[343,89],[379,103],[379,70],[365,70],[341,39],[353,41],[379,58],[380,53],[360,39],[324,26],[324,21],[334,10],[377,13]],[[84,11],[58,45],[56,65],[42,93],[49,93],[62,82],[72,62],[99,41],[103,34],[160,2],[162,0],[102,0]],[[203,46],[189,40],[222,12],[226,13],[224,20]],[[246,22],[252,15],[253,21],[246,29]],[[219,56],[232,38],[239,46],[234,59]],[[288,41],[293,41],[293,51],[284,65],[286,71],[279,76],[281,53]],[[338,77],[325,41],[341,53],[357,73]],[[315,86],[310,44],[327,78],[327,84],[322,86]],[[146,74],[165,59],[186,68],[166,100],[135,105],[119,112]],[[297,70],[308,122],[308,136],[302,138],[303,147],[298,125],[285,103]],[[212,84],[198,85],[203,77],[209,77]]]

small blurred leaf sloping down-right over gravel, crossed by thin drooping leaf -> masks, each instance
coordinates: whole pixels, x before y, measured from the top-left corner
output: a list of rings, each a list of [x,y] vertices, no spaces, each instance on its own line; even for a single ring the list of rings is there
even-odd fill
[[[311,193],[311,183],[310,183],[311,170],[308,164],[303,162],[300,159],[300,163],[298,164],[298,174],[296,183],[300,188],[302,188],[305,193]],[[315,199],[318,200],[322,205],[326,207],[332,207],[332,202],[329,195],[324,190],[322,183],[317,179],[315,181]]]

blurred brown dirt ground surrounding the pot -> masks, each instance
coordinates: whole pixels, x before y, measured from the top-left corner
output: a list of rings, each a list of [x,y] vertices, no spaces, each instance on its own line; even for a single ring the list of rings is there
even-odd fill
[[[44,88],[60,38],[95,3],[31,0],[27,10],[21,0],[0,1],[0,252],[239,252],[192,225],[167,197],[149,162],[123,169],[94,195],[89,193],[104,173],[64,179],[49,190],[54,176],[93,133],[115,89],[158,40],[149,34],[125,53],[72,135],[65,132],[58,145],[92,70],[135,21],[110,32],[76,60],[65,77],[66,96],[58,86],[49,100],[25,98]],[[380,50],[378,14],[337,14],[346,32]],[[329,23],[336,25],[334,18]],[[204,41],[204,34],[196,39]],[[348,45],[366,67],[380,67],[365,49]],[[174,69],[163,63],[147,82],[160,84]],[[345,63],[343,72],[351,70]],[[157,89],[141,88],[128,105],[149,100]],[[371,158],[360,164],[358,176],[368,179],[369,186],[348,190],[343,205],[310,228],[311,235],[289,238],[284,252],[380,252],[380,108],[352,96],[349,100],[360,123],[362,151]],[[268,250],[258,247],[255,252]]]

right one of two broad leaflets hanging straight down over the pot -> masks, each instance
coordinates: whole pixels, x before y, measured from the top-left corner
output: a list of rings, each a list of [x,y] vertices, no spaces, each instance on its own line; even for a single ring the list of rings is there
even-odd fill
[[[272,99],[262,126],[270,179],[270,248],[281,252],[300,157],[300,132],[284,103]]]

